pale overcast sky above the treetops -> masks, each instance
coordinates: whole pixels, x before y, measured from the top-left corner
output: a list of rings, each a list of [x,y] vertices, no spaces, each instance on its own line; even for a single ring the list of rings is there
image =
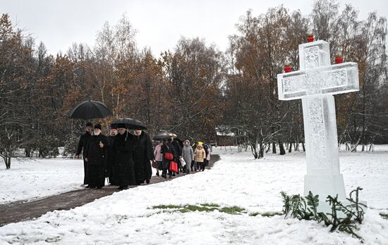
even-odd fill
[[[351,4],[360,11],[359,19],[377,11],[388,16],[388,1],[340,0],[340,8]],[[178,39],[205,38],[224,51],[228,36],[236,33],[235,24],[248,9],[253,15],[284,4],[290,11],[311,12],[313,0],[0,0],[0,13],[11,15],[13,23],[46,44],[49,53],[66,52],[73,42],[95,44],[95,36],[106,21],[115,25],[126,13],[138,30],[136,42],[141,49],[149,46],[159,55],[174,49]]]

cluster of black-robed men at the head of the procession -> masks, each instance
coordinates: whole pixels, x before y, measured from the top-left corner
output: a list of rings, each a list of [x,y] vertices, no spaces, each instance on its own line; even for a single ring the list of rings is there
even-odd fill
[[[92,130],[94,128],[94,131]],[[101,125],[88,122],[78,142],[75,158],[83,152],[86,188],[102,188],[105,177],[109,184],[128,189],[129,185],[150,183],[154,159],[152,142],[143,130],[128,132],[126,125],[111,125],[109,137]]]

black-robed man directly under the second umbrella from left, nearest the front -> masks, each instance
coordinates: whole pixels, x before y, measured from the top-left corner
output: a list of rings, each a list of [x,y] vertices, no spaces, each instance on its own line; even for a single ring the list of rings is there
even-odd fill
[[[128,189],[128,185],[136,184],[133,170],[133,135],[128,133],[125,125],[117,126],[117,132],[112,149],[114,182],[119,185],[119,189]]]

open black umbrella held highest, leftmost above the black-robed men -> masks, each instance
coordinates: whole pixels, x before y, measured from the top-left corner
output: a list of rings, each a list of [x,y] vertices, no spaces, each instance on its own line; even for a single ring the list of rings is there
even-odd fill
[[[113,115],[109,108],[104,103],[99,101],[83,101],[68,113],[69,118],[93,119],[105,118],[108,115]]]

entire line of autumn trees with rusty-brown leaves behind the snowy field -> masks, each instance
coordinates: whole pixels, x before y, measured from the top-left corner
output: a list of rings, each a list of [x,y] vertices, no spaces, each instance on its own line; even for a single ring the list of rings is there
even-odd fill
[[[331,54],[358,63],[360,92],[336,96],[339,140],[357,144],[387,142],[387,20],[356,9],[342,11],[333,1],[315,1],[310,15],[284,6],[237,23],[226,52],[205,40],[181,38],[172,51],[154,56],[139,49],[135,28],[123,15],[106,23],[94,46],[73,44],[53,56],[43,43],[0,19],[0,153],[16,149],[55,155],[73,151],[85,122],[67,113],[80,101],[104,102],[112,118],[142,120],[150,134],[176,132],[183,139],[214,142],[216,132],[234,133],[255,158],[265,147],[280,153],[303,143],[301,101],[279,101],[277,74],[288,61],[298,70],[298,44],[309,33],[330,42]],[[286,146],[284,146],[286,144]],[[286,148],[286,149],[285,149]]]

